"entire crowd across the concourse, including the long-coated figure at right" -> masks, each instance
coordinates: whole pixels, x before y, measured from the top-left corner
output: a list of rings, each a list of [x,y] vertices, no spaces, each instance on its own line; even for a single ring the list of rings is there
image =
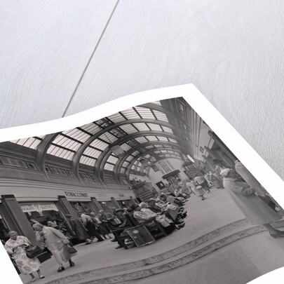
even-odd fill
[[[156,193],[147,202],[133,203],[128,208],[112,208],[111,212],[100,210],[99,214],[91,211],[81,212],[76,217],[67,214],[71,233],[62,229],[62,226],[53,220],[48,220],[46,224],[35,222],[32,226],[39,246],[33,246],[25,236],[18,236],[17,232],[10,231],[8,233],[10,238],[6,241],[5,248],[15,260],[18,271],[29,274],[34,281],[36,280],[34,273],[37,273],[39,278],[45,276],[41,273],[41,262],[36,255],[28,254],[29,248],[35,248],[35,250],[39,248],[39,251],[47,248],[58,262],[58,272],[61,272],[65,270],[65,263],[69,263],[70,267],[75,265],[70,250],[73,248],[72,237],[76,237],[76,240],[86,245],[93,243],[95,239],[101,242],[109,238],[111,242],[118,243],[116,249],[119,249],[123,248],[119,239],[125,233],[125,229],[137,224],[153,229],[158,223],[166,234],[170,234],[185,226],[184,218],[187,217],[187,211],[184,210],[184,204],[191,194],[205,200],[204,195],[210,194],[213,188],[225,189],[229,192],[232,200],[250,224],[262,224],[273,238],[284,237],[284,231],[271,225],[282,219],[278,212],[280,207],[255,177],[237,160],[235,165],[229,166],[224,166],[218,161],[215,173],[200,173],[183,181],[173,178],[163,191]],[[123,242],[135,245],[130,236],[123,240]]]

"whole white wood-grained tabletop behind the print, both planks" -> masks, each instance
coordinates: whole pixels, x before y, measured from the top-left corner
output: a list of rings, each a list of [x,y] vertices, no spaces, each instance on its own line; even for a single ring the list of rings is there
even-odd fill
[[[280,0],[2,1],[0,127],[194,83],[284,177],[283,14]]]

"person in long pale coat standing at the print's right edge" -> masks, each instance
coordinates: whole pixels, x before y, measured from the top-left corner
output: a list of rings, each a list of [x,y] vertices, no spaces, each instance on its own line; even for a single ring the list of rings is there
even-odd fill
[[[273,238],[284,237],[284,231],[274,229],[270,224],[282,217],[255,194],[255,189],[252,189],[246,182],[238,180],[234,170],[223,169],[220,175],[223,177],[224,188],[229,191],[231,198],[250,224],[265,226]]]

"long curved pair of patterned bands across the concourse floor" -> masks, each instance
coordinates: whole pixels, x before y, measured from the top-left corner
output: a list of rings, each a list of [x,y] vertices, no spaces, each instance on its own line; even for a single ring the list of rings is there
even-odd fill
[[[284,221],[277,222],[275,226],[284,226]],[[206,246],[215,244],[214,245],[215,249],[222,248],[222,246],[226,244],[232,243],[234,241],[238,241],[238,239],[244,238],[246,236],[250,236],[251,234],[255,234],[263,230],[265,230],[263,226],[250,226],[250,224],[248,224],[247,219],[241,219],[236,222],[232,222],[231,224],[226,224],[213,231],[210,231],[208,234],[205,234],[199,238],[196,238],[194,241],[189,241],[188,243],[184,243],[183,245],[180,245],[177,248],[168,250],[167,252],[163,252],[158,255],[147,257],[145,259],[140,259],[134,262],[131,262],[130,259],[126,259],[128,260],[127,263],[114,265],[114,266],[107,266],[107,267],[100,268],[100,269],[83,271],[79,273],[74,273],[64,278],[58,278],[56,280],[51,280],[50,282],[48,282],[48,284],[86,283],[86,280],[89,281],[90,279],[92,279],[90,281],[97,281],[97,282],[90,282],[90,283],[119,283],[117,282],[117,280],[121,279],[119,278],[120,273],[123,273],[123,278],[126,278],[126,280],[139,279],[139,278],[135,278],[137,277],[135,276],[137,274],[136,271],[134,271],[135,269],[138,269],[140,273],[143,272],[142,273],[143,277],[147,277],[146,275],[147,273],[149,273],[148,270],[151,269],[150,266],[152,265],[155,266],[154,267],[155,269],[156,269],[156,266],[157,267],[161,266],[163,267],[163,269],[165,269],[163,266],[165,265],[163,264],[164,261],[172,262],[173,260],[176,262],[177,259],[182,259],[184,257],[186,257],[186,259],[184,260],[185,262],[187,262],[188,259],[193,259],[191,261],[194,261],[195,260],[194,255],[196,253],[198,255],[201,255],[201,257],[204,256],[203,253],[201,254],[199,253],[199,250],[203,250],[204,246],[206,247]],[[208,251],[205,255],[211,252],[209,247],[208,247],[208,250],[205,250],[205,251]],[[199,257],[197,257],[196,259],[198,258]],[[179,263],[178,266],[181,266],[181,265],[184,265],[190,262],[187,262],[187,263],[178,262],[178,263]],[[172,265],[170,266],[169,265],[170,264],[166,264],[167,267],[172,267]],[[176,268],[175,265],[173,265],[172,269],[174,268]],[[108,277],[107,278],[102,277],[104,275],[108,275]],[[123,280],[123,281],[126,281],[126,280]],[[100,282],[100,281],[104,281],[104,282]],[[105,281],[110,281],[110,282],[105,282]],[[113,282],[113,281],[116,281],[116,282]]]

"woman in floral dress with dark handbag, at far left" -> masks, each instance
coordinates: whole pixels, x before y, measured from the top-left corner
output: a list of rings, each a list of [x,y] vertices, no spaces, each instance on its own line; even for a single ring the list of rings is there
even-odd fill
[[[39,262],[39,259],[37,257],[27,257],[25,248],[31,245],[29,239],[25,236],[18,236],[16,231],[9,231],[8,236],[10,238],[5,243],[5,249],[15,259],[20,273],[29,274],[32,277],[32,282],[36,280],[34,272],[38,273],[40,279],[43,279],[44,276],[41,274],[41,262]]]

